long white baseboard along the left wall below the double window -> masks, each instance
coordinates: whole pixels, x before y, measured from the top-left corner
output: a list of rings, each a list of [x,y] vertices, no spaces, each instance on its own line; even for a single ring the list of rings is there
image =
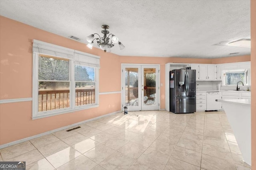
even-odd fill
[[[10,142],[10,143],[6,143],[6,144],[3,144],[3,145],[0,145],[0,149],[3,149],[3,148],[6,148],[6,147],[10,147],[12,145],[16,145],[16,144],[19,144],[19,143],[22,143],[22,142],[26,142],[26,141],[29,141],[31,139],[35,139],[35,138],[38,138],[38,137],[41,137],[41,136],[44,136],[44,135],[49,135],[51,133],[54,133],[54,132],[57,132],[57,131],[61,131],[61,130],[64,130],[64,129],[67,129],[69,127],[73,127],[73,126],[76,126],[76,125],[80,125],[80,124],[83,124],[83,123],[86,123],[88,121],[92,121],[92,120],[96,120],[96,119],[100,119],[102,117],[106,117],[106,116],[109,116],[109,115],[113,115],[113,114],[116,114],[116,113],[121,113],[121,111],[115,111],[113,113],[108,113],[106,115],[102,115],[102,116],[99,116],[99,117],[94,117],[92,119],[88,119],[88,120],[85,120],[85,121],[80,121],[78,123],[74,123],[72,125],[67,125],[67,126],[64,126],[64,127],[60,127],[58,129],[54,129],[52,131],[47,131],[47,132],[44,132],[44,133],[40,133],[38,135],[34,135],[34,136],[31,136],[31,137],[26,137],[24,139],[20,139],[20,140],[17,140],[17,141],[13,141],[13,142]]]

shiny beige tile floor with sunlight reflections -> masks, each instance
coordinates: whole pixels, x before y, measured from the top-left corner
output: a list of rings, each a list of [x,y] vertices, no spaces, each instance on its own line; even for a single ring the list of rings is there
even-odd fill
[[[251,169],[224,112],[129,113],[138,117],[117,113],[1,149],[0,161],[30,170]]]

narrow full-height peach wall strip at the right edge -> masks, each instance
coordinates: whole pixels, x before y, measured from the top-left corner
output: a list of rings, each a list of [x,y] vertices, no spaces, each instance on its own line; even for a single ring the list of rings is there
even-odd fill
[[[252,69],[252,170],[256,170],[256,1],[251,0],[251,69]]]

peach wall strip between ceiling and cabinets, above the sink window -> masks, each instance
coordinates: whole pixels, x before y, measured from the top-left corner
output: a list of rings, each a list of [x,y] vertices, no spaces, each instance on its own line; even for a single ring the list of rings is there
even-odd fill
[[[250,55],[242,55],[242,56],[235,56],[235,57],[223,57],[212,59],[212,64],[224,64],[224,63],[237,63],[237,62],[245,62],[251,61]]]

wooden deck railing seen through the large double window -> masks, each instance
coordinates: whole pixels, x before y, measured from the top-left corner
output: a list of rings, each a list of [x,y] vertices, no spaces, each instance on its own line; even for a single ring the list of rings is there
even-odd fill
[[[76,89],[75,106],[95,103],[95,89]],[[69,90],[38,90],[38,111],[70,106]]]

